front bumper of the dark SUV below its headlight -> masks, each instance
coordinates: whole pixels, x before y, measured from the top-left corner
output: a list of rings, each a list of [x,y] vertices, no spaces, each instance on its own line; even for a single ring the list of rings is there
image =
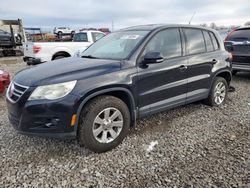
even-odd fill
[[[21,134],[55,138],[75,138],[71,118],[77,111],[77,97],[67,95],[54,101],[27,101],[32,88],[16,102],[6,97],[8,117],[13,127]],[[8,93],[7,93],[8,95]]]

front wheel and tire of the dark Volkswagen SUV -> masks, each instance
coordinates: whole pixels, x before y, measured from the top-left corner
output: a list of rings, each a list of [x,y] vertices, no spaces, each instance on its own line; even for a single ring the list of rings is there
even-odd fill
[[[104,117],[105,112],[109,118]],[[112,115],[115,115],[112,122],[105,120],[112,119]],[[114,122],[119,124],[119,127],[114,126]],[[91,100],[82,110],[77,139],[81,146],[102,153],[118,146],[127,135],[129,127],[130,112],[127,105],[119,98],[108,95],[100,96]],[[94,134],[94,130],[96,134]],[[112,136],[110,131],[113,132],[113,135],[115,135],[114,132],[117,133],[116,137]]]

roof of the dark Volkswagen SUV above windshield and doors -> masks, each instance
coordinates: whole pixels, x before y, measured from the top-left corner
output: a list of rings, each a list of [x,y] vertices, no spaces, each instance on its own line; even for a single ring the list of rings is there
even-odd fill
[[[138,31],[138,30],[153,31],[153,30],[170,28],[170,27],[188,27],[188,28],[197,28],[197,29],[205,29],[205,30],[214,31],[213,29],[210,29],[207,27],[188,25],[188,24],[148,24],[148,25],[128,27],[125,29],[121,29],[120,31]]]

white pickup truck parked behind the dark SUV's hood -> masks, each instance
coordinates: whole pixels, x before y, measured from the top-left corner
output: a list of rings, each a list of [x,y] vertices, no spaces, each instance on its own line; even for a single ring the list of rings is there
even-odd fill
[[[28,65],[34,65],[71,57],[78,51],[85,50],[103,36],[105,36],[104,33],[91,30],[76,33],[72,42],[26,42],[23,44],[23,60]]]

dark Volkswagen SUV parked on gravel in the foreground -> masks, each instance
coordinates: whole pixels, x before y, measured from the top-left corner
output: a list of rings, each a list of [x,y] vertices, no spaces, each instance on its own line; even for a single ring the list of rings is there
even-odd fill
[[[145,25],[103,37],[82,58],[17,73],[6,96],[18,132],[75,137],[105,152],[138,118],[200,100],[223,105],[230,81],[230,54],[216,31]]]

